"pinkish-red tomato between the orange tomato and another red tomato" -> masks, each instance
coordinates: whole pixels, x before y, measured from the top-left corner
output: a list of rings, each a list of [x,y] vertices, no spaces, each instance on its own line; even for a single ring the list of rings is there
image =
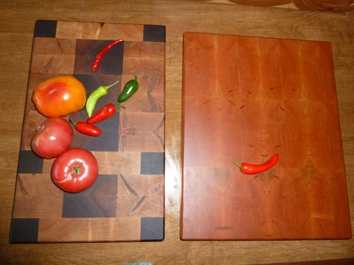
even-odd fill
[[[61,117],[46,119],[31,139],[33,152],[43,158],[54,158],[72,144],[72,126]]]

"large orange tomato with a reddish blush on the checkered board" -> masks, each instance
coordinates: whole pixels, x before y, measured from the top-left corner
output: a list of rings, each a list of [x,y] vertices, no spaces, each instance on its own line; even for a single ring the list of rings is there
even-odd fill
[[[56,76],[35,87],[32,100],[45,117],[63,117],[83,108],[86,89],[74,76]]]

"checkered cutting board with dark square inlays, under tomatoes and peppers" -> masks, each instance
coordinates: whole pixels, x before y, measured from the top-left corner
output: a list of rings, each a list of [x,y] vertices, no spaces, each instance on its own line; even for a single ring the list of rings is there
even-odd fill
[[[124,39],[90,70],[95,55]],[[114,117],[98,123],[100,137],[74,130],[71,147],[92,151],[99,163],[94,185],[69,194],[51,182],[54,160],[31,151],[31,137],[45,117],[31,96],[43,80],[73,75],[90,94],[120,80],[97,103],[117,103],[124,84],[138,77],[139,90]],[[35,24],[26,110],[19,152],[10,242],[161,241],[164,237],[165,27],[61,22]],[[86,121],[85,109],[73,114]]]

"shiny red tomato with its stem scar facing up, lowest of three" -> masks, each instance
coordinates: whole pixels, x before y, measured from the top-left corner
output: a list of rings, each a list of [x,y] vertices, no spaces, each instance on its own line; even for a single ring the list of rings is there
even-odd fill
[[[51,179],[63,191],[77,193],[90,187],[98,175],[94,155],[83,148],[70,148],[54,161]]]

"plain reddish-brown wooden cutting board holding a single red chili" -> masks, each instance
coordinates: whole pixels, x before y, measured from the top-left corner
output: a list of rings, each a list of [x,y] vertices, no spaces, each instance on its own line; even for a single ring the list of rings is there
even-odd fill
[[[351,238],[330,43],[185,33],[182,128],[182,239]]]

